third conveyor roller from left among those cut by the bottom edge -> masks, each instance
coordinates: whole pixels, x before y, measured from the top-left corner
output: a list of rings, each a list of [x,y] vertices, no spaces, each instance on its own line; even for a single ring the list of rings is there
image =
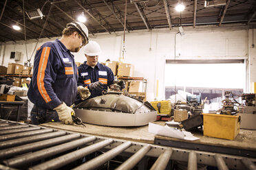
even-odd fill
[[[136,152],[136,154],[123,162],[122,165],[120,165],[116,170],[132,169],[147,154],[150,148],[150,145],[145,145],[138,152]]]

